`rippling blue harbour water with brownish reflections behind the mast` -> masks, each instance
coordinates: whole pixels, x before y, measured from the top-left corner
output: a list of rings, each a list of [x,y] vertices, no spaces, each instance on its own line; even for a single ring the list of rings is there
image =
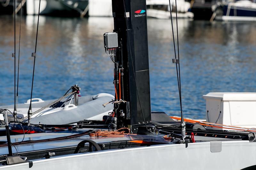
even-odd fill
[[[19,22],[17,17],[16,66]],[[18,103],[25,103],[30,98],[37,18],[26,16],[21,22]],[[81,95],[114,95],[114,65],[103,47],[103,33],[112,31],[113,18],[40,16],[33,98],[57,99],[73,84],[81,87]],[[209,92],[256,91],[255,22],[178,19],[178,31],[185,117],[205,118],[202,95]],[[12,16],[0,16],[0,105],[14,103],[13,32]],[[148,50],[151,109],[179,116],[170,20],[148,18]]]

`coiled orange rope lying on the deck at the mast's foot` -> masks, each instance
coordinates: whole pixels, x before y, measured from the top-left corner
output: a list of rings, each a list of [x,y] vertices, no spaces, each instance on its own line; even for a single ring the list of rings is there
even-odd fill
[[[128,130],[129,132],[128,133],[125,133],[125,131],[120,131],[120,130],[123,130],[123,129],[126,129]],[[121,128],[121,129],[118,129],[116,131],[94,131],[95,133],[90,133],[89,136],[90,137],[99,137],[99,136],[105,136],[105,137],[120,137],[120,136],[124,136],[124,135],[128,135],[130,134],[130,129],[128,128]]]

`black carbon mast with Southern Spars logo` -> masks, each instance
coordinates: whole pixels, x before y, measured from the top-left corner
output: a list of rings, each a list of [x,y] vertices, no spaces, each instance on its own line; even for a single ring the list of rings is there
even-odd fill
[[[114,82],[121,83],[119,96],[126,101],[114,104],[114,111],[120,127],[130,127],[133,133],[152,132],[146,8],[146,0],[112,0],[114,32],[118,34],[114,62],[122,70],[121,82],[118,77]]]

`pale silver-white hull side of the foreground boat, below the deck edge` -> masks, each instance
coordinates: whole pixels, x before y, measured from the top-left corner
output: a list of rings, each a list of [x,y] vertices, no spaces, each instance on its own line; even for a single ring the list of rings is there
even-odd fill
[[[79,153],[11,166],[2,170],[49,169],[233,169],[239,170],[256,164],[256,142],[222,141],[221,152],[211,152],[210,142],[156,145]]]

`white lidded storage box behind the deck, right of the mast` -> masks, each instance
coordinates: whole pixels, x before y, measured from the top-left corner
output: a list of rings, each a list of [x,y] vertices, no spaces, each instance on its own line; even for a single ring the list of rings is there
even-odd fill
[[[207,122],[256,128],[256,93],[208,93],[203,98]]]

